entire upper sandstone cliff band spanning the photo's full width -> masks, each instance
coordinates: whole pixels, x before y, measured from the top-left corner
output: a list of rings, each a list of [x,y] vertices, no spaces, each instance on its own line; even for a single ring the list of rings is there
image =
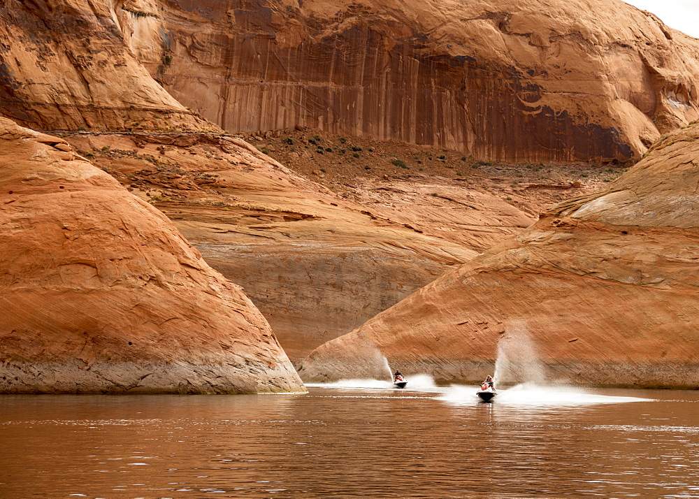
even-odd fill
[[[0,113],[38,129],[213,126],[189,106],[229,131],[625,161],[699,112],[698,41],[621,0],[8,0],[0,34]]]

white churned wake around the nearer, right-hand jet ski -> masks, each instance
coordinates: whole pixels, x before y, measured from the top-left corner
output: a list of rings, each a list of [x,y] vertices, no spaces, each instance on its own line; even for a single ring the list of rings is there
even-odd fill
[[[472,404],[480,401],[474,386],[453,385],[438,397],[450,403]],[[650,399],[600,395],[571,386],[552,386],[535,383],[522,383],[507,390],[498,390],[498,405],[565,406],[592,404],[620,404],[645,402]]]

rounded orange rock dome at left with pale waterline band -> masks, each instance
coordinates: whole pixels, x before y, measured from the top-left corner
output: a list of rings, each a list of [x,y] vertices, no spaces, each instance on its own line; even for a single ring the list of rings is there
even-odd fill
[[[64,140],[0,119],[0,393],[303,391],[236,284]]]

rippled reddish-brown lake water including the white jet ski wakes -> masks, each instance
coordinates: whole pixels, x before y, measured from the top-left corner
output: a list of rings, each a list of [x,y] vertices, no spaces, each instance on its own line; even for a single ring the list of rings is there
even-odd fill
[[[699,498],[699,392],[410,386],[1,396],[0,497]]]

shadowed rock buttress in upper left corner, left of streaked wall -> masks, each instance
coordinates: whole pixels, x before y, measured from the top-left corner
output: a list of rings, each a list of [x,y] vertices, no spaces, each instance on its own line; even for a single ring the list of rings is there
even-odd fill
[[[43,130],[215,129],[158,85],[124,43],[132,18],[155,20],[144,9],[132,0],[3,2],[0,115]]]

